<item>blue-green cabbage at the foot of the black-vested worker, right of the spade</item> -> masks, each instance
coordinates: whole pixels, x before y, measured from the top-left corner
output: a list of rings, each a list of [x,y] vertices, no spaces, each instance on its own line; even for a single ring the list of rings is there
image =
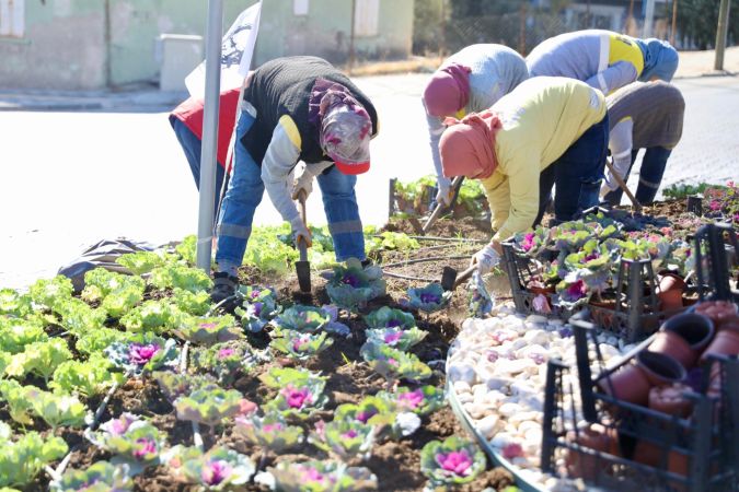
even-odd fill
[[[377,266],[363,268],[356,258],[349,258],[346,266],[334,267],[334,274],[326,283],[331,302],[347,311],[357,311],[368,301],[385,294],[382,269]]]

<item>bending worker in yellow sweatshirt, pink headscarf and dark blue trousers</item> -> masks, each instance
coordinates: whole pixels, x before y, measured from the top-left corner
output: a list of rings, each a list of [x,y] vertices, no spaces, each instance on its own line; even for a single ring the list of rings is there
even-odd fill
[[[439,144],[443,174],[480,179],[493,213],[495,235],[473,257],[481,273],[499,262],[501,241],[541,221],[554,185],[557,222],[598,204],[608,147],[600,91],[540,77],[484,113],[447,121]]]

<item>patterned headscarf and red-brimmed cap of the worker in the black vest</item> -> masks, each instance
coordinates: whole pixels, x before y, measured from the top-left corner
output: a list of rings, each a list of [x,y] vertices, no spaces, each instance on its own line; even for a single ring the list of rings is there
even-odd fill
[[[309,121],[319,128],[321,149],[344,174],[369,169],[372,120],[344,85],[319,79],[311,91]]]

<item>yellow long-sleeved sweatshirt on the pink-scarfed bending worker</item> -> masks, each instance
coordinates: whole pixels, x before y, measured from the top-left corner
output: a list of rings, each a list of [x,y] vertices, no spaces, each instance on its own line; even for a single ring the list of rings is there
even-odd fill
[[[503,129],[495,142],[498,167],[483,179],[496,241],[531,227],[539,211],[539,174],[605,116],[603,94],[585,82],[536,77],[492,107]]]

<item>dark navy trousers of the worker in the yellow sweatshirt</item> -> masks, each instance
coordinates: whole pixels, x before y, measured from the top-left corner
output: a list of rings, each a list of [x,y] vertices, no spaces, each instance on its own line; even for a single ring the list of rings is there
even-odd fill
[[[534,225],[544,215],[554,185],[554,216],[557,222],[577,219],[582,210],[598,204],[607,150],[608,115],[539,175],[539,214]]]

